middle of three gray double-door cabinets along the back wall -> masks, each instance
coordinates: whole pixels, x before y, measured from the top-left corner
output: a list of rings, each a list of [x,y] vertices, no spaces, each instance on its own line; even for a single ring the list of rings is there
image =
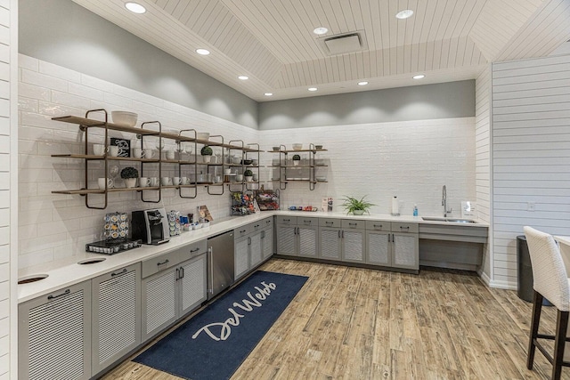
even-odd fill
[[[321,218],[319,225],[319,257],[364,263],[366,234],[363,221]]]

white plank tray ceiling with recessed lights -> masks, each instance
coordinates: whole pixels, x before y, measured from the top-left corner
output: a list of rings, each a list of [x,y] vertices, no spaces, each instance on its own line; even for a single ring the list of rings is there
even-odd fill
[[[74,1],[256,101],[472,79],[570,39],[568,0],[138,0],[142,15],[123,0]],[[414,14],[396,19],[404,9]],[[324,38],[352,32],[361,51],[327,52]]]

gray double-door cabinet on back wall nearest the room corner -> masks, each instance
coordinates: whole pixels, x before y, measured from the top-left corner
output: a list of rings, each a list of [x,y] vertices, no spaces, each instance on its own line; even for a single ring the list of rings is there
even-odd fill
[[[319,218],[278,216],[276,220],[277,254],[317,257]]]

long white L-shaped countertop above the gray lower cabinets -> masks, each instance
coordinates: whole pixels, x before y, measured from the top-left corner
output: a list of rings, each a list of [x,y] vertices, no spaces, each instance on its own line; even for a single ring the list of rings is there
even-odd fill
[[[422,224],[444,224],[444,225],[461,225],[472,228],[488,228],[486,223],[453,223],[453,222],[428,222],[422,220],[421,216],[392,216],[390,214],[371,214],[371,215],[346,215],[346,213],[327,213],[327,212],[305,212],[305,211],[264,211],[258,214],[247,216],[233,216],[222,220],[214,221],[207,228],[200,230],[184,231],[182,235],[171,238],[169,242],[159,246],[146,246],[135,248],[129,251],[121,252],[117,255],[101,255],[88,252],[73,252],[69,257],[55,261],[53,263],[44,263],[33,267],[20,270],[19,279],[32,276],[47,274],[46,279],[28,284],[18,285],[18,302],[24,303],[34,299],[40,295],[48,295],[63,287],[69,287],[87,279],[94,279],[97,276],[116,271],[133,263],[138,263],[149,259],[153,256],[163,255],[176,248],[194,243],[201,239],[208,239],[228,230],[239,228],[240,226],[256,222],[273,215],[291,215],[304,217],[320,217],[320,218],[336,218],[336,219],[358,219],[371,221],[387,221],[387,222],[417,222]],[[101,263],[81,265],[80,262],[85,259],[93,259],[94,257],[104,257]]]

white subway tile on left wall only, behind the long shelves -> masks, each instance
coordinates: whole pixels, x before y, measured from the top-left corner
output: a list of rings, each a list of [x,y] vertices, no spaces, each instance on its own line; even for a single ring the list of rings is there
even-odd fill
[[[215,219],[230,214],[227,188],[223,196],[213,196],[200,187],[195,199],[180,198],[177,190],[163,190],[159,204],[142,202],[137,192],[110,193],[105,210],[85,207],[85,198],[80,196],[53,194],[52,190],[78,189],[85,185],[83,160],[51,157],[52,154],[82,153],[84,133],[79,131],[78,125],[53,121],[54,116],[84,117],[88,109],[104,108],[109,112],[124,109],[139,114],[139,126],[142,121],[159,120],[163,130],[178,132],[193,128],[221,134],[226,142],[256,142],[257,131],[26,55],[20,54],[20,63],[20,268],[82,252],[85,243],[101,238],[106,213],[164,206],[167,210],[195,214],[197,206],[207,205]],[[102,130],[90,132],[89,153],[92,153],[91,143],[102,142],[103,137]],[[112,137],[135,142],[134,135],[118,133]],[[145,141],[145,144],[155,148],[154,142]],[[0,150],[3,147],[0,138]],[[167,141],[165,149],[175,149],[174,142]],[[0,167],[3,165],[1,156]],[[99,164],[89,166],[90,188],[96,188],[97,178],[103,175],[103,166]],[[110,165],[115,164],[119,168],[130,166],[127,162],[110,162]],[[222,174],[221,169],[219,174]],[[163,165],[163,175],[175,176],[175,166]],[[117,181],[121,182],[120,177]],[[149,198],[153,198],[152,194]],[[94,204],[101,205],[96,199]],[[0,239],[2,236],[0,230]]]

